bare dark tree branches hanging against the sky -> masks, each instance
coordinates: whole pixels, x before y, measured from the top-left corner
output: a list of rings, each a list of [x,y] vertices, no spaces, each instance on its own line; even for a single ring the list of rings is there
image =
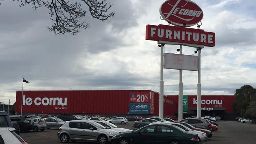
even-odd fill
[[[89,7],[89,12],[93,18],[107,20],[115,13],[108,10],[112,7],[107,0],[13,0],[20,2],[20,7],[32,5],[35,11],[42,6],[49,9],[50,19],[54,24],[48,29],[55,34],[78,33],[80,28],[87,29],[89,23],[83,21],[86,11],[82,9],[80,2]],[[1,4],[1,3],[0,3]]]

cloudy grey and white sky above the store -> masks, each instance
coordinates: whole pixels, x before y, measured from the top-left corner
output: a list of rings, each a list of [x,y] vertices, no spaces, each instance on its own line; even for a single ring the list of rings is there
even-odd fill
[[[193,0],[204,12],[201,29],[216,33],[216,46],[201,57],[202,95],[234,94],[256,87],[256,1]],[[76,35],[48,31],[45,8],[0,5],[0,102],[15,102],[22,90],[159,91],[160,48],[145,40],[147,24],[167,24],[159,7],[165,0],[108,0],[115,17],[85,20],[91,28]],[[86,6],[85,6],[86,7]],[[174,53],[179,46],[165,46]],[[195,48],[183,48],[191,55]],[[178,95],[178,70],[164,69],[164,94]],[[197,72],[183,71],[183,94],[197,94]]]

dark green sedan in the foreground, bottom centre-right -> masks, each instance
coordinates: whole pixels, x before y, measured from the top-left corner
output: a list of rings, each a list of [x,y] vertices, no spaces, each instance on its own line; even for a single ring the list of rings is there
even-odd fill
[[[112,137],[112,144],[199,144],[197,134],[167,124],[152,124]]]

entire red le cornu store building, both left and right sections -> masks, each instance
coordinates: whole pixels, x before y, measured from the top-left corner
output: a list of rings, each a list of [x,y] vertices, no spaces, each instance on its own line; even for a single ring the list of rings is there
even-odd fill
[[[158,115],[159,93],[152,90],[17,91],[16,113]],[[202,116],[233,119],[235,96],[202,96]],[[184,96],[184,118],[197,115],[197,96]],[[164,115],[178,115],[178,96],[164,96]]]

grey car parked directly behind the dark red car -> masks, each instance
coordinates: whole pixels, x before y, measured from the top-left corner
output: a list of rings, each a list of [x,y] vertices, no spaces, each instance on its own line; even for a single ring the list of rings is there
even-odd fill
[[[202,118],[186,118],[181,120],[180,122],[186,122],[187,124],[191,124],[194,127],[213,131],[213,129],[211,128],[211,123],[208,120]]]

